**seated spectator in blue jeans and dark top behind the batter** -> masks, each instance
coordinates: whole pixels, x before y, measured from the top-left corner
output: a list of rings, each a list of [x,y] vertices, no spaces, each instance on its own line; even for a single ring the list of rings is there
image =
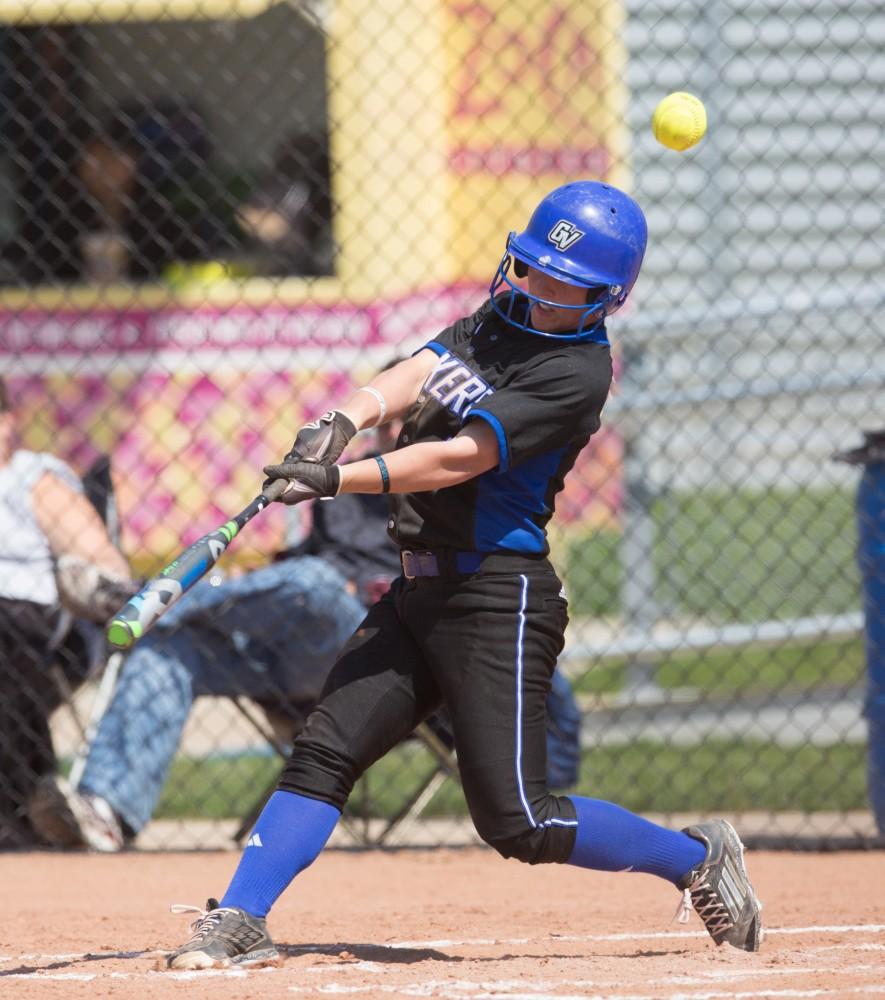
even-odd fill
[[[381,451],[393,447],[395,427],[377,433]],[[246,695],[306,714],[366,607],[400,573],[387,517],[383,495],[315,504],[302,546],[218,586],[198,584],[175,604],[129,654],[78,787],[62,778],[42,783],[32,809],[41,834],[58,846],[100,851],[119,850],[137,835],[197,696]],[[579,714],[559,674],[548,711],[548,773],[562,787],[577,777]]]

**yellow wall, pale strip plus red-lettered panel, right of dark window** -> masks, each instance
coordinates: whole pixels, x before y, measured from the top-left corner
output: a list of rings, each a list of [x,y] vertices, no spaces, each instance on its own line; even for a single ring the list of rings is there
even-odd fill
[[[490,278],[559,184],[626,184],[616,0],[341,0],[329,102],[341,279],[358,298]]]

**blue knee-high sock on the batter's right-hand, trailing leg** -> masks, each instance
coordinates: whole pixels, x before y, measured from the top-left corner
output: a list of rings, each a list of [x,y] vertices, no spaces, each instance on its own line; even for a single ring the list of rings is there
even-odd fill
[[[612,802],[569,798],[578,814],[570,865],[605,872],[648,872],[678,884],[707,856],[704,845],[694,837],[657,826]]]

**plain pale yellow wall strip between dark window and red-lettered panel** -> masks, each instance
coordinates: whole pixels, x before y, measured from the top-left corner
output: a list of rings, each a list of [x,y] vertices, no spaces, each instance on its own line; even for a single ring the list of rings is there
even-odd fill
[[[344,294],[434,284],[449,242],[443,9],[343,0],[329,24],[329,114]]]

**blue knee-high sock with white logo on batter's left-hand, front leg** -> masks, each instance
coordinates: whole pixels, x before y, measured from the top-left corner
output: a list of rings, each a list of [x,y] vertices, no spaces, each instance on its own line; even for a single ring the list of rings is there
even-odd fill
[[[265,917],[286,886],[313,862],[341,813],[328,802],[277,791],[249,837],[222,906]]]

